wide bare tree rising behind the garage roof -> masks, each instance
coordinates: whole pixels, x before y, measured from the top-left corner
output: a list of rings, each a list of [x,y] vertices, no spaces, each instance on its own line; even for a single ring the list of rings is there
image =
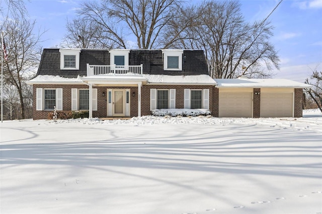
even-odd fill
[[[172,47],[203,49],[211,77],[263,78],[270,77],[273,67],[279,69],[277,51],[269,42],[273,27],[266,21],[246,23],[238,2],[208,1],[186,10],[186,14],[194,14],[194,24],[180,34]],[[182,23],[181,19],[174,23]],[[168,34],[178,32],[178,25],[168,29]]]

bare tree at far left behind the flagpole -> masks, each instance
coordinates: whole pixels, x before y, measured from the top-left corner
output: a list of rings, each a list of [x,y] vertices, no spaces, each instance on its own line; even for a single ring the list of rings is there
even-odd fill
[[[35,74],[41,56],[39,39],[42,33],[35,35],[34,26],[35,21],[21,17],[7,20],[3,27],[8,51],[8,61],[3,61],[4,80],[17,89],[22,119],[26,118],[25,100],[28,98],[25,97],[25,80]]]

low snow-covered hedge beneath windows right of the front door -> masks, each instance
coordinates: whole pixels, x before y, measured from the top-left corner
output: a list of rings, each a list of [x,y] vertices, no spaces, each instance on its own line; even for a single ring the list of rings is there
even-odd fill
[[[211,115],[206,109],[155,109],[151,111],[153,116],[171,116],[171,117],[197,117]]]

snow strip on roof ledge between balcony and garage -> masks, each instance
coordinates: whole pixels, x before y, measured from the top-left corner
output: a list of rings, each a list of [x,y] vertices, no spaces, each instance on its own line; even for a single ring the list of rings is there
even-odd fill
[[[209,75],[154,75],[143,74],[148,83],[164,83],[164,84],[206,84],[215,85],[216,82]]]

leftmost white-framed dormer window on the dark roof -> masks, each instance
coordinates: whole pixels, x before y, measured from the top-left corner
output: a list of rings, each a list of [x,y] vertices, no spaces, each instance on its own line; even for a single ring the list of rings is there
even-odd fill
[[[78,70],[81,49],[60,49],[60,69]]]

